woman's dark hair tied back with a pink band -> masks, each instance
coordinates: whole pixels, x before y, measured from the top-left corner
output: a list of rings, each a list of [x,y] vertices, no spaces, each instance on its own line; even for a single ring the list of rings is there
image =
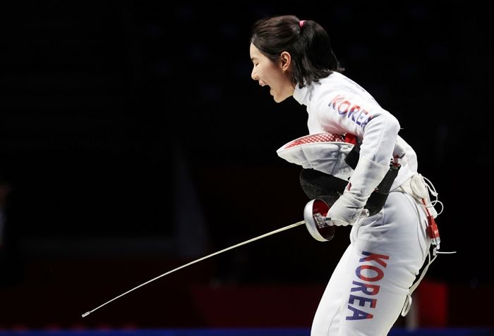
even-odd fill
[[[293,82],[299,87],[319,82],[333,71],[344,71],[332,51],[329,35],[313,20],[301,22],[295,15],[262,18],[253,25],[251,43],[273,62],[283,51],[289,52]]]

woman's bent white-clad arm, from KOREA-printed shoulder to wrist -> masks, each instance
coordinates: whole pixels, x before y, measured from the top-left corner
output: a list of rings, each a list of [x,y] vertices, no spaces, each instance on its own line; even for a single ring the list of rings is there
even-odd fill
[[[390,168],[399,122],[375,101],[346,92],[322,97],[317,113],[320,125],[328,132],[348,132],[361,141],[359,163],[344,194],[327,215],[354,224],[368,197]]]

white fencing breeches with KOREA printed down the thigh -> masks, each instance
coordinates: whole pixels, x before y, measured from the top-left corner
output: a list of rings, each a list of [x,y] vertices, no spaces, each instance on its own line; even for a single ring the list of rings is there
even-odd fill
[[[315,312],[311,336],[387,335],[427,258],[420,204],[391,192],[382,211],[354,225]],[[367,269],[365,269],[367,268]]]

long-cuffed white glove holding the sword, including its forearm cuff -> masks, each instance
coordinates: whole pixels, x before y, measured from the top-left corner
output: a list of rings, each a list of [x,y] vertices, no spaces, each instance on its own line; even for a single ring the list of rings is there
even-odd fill
[[[361,225],[369,216],[369,211],[363,209],[363,206],[386,175],[387,170],[390,170],[389,166],[382,166],[361,156],[348,187],[327,212],[327,223]]]

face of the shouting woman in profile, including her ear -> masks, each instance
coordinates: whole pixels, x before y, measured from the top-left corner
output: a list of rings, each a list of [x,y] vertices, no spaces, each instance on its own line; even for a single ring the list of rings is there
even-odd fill
[[[270,87],[270,94],[277,103],[284,101],[294,94],[294,85],[291,82],[289,65],[283,57],[272,62],[251,43],[251,60],[253,69],[251,77],[257,80],[260,86]]]

